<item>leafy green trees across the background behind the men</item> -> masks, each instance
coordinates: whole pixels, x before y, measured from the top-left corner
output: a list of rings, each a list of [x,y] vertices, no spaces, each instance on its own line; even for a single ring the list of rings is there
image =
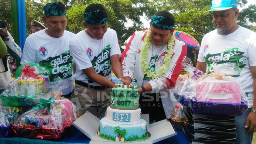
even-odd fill
[[[31,20],[42,22],[43,6],[48,2],[58,0],[25,0],[27,34],[31,28]],[[109,28],[114,29],[118,35],[120,45],[136,30],[144,29],[140,16],[146,14],[147,18],[160,10],[170,11],[175,17],[175,28],[193,35],[199,42],[204,34],[215,29],[212,14],[204,13],[211,7],[210,0],[60,0],[67,9],[67,30],[77,33],[83,30],[83,13],[90,3],[101,3],[109,15]],[[247,0],[238,0],[244,6]],[[7,23],[8,30],[13,34],[12,12],[10,0],[1,0],[0,19]],[[125,23],[131,20],[133,26],[126,27]],[[250,5],[240,11],[238,24],[255,30],[251,22],[256,21],[256,5]]]

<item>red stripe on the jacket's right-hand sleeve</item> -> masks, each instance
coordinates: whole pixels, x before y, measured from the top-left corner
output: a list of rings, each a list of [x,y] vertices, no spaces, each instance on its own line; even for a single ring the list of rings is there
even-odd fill
[[[180,54],[180,57],[178,58],[178,60],[175,63],[175,67],[172,70],[173,72],[171,74],[168,75],[168,78],[166,79],[166,83],[167,83],[167,89],[172,89],[175,84],[176,84],[176,80],[179,77],[181,71],[182,71],[182,61],[184,59],[184,57],[186,57],[187,55],[187,45],[183,45],[182,46],[182,51]],[[171,78],[169,79],[169,76],[171,75]]]

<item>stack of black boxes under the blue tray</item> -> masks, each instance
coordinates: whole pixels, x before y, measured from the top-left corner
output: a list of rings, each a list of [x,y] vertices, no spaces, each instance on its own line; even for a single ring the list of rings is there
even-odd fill
[[[235,117],[194,113],[183,107],[183,132],[191,144],[233,144],[236,142]]]

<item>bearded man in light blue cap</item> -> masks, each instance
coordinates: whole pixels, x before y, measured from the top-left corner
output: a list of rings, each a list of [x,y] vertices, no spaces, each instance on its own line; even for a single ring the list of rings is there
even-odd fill
[[[236,0],[213,0],[213,22],[216,30],[207,33],[201,43],[197,68],[207,74],[218,64],[231,62],[240,67],[233,76],[241,83],[248,99],[248,110],[236,116],[237,142],[249,144],[256,131],[256,33],[237,24]]]

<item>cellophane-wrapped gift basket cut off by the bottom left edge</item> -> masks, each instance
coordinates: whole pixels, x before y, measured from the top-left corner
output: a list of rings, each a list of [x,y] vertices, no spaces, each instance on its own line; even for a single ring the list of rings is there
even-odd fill
[[[0,137],[6,137],[10,133],[18,112],[18,108],[0,106]]]

